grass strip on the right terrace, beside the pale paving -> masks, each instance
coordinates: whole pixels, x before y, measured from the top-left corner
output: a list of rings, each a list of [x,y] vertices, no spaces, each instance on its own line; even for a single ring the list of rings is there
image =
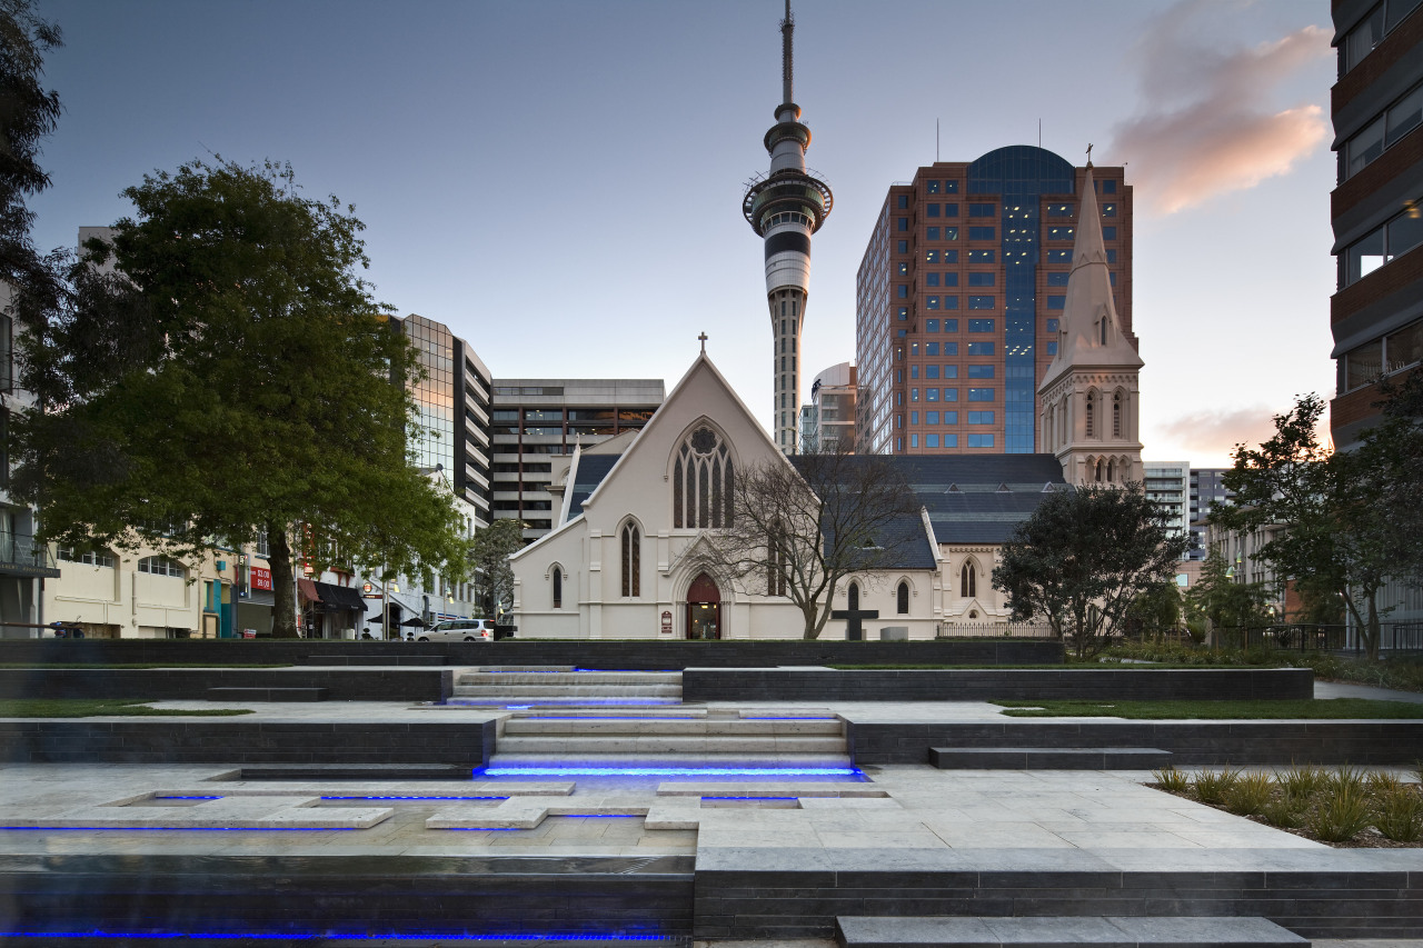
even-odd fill
[[[1363,697],[1298,700],[1036,700],[992,702],[1009,717],[1126,717],[1128,720],[1395,720],[1423,717],[1423,703]]]

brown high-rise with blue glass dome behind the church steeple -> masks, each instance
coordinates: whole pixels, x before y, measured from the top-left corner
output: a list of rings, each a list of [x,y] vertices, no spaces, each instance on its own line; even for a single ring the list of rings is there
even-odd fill
[[[1029,454],[1057,346],[1086,168],[1030,145],[935,162],[892,185],[857,278],[859,450]],[[1123,336],[1131,188],[1093,167]]]

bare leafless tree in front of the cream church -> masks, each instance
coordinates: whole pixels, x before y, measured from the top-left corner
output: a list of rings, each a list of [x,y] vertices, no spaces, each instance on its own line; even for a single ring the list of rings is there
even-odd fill
[[[746,592],[795,604],[807,639],[820,638],[848,574],[888,567],[915,542],[928,544],[894,463],[842,453],[776,457],[739,471],[730,524],[709,537]]]

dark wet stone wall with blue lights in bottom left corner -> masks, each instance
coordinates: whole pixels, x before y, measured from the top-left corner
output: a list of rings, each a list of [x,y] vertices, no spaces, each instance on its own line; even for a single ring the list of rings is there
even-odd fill
[[[571,861],[581,864],[562,865]],[[0,890],[9,895],[0,901],[0,924],[7,931],[55,934],[176,932],[179,939],[202,944],[208,942],[199,934],[293,938],[280,944],[332,944],[322,937],[332,931],[425,934],[420,944],[441,941],[435,938],[441,932],[455,938],[465,932],[690,934],[690,857],[662,857],[639,867],[645,861],[0,857]],[[129,942],[108,938],[104,944]]]

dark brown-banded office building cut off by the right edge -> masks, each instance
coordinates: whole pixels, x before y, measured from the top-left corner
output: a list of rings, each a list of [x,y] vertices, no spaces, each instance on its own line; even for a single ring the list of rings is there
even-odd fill
[[[1335,447],[1377,418],[1373,381],[1423,362],[1423,4],[1335,0],[1331,196],[1339,292],[1329,303]]]

